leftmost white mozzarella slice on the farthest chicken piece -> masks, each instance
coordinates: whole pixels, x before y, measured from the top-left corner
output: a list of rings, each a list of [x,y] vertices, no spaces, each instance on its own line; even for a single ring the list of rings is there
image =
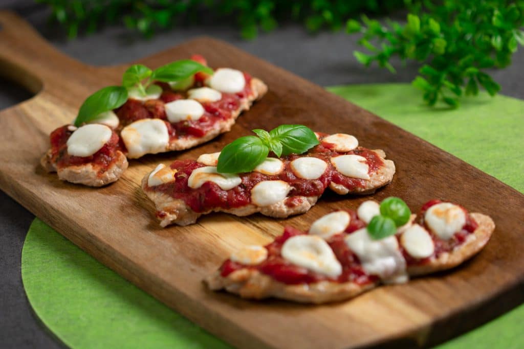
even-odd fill
[[[91,156],[99,151],[113,132],[99,123],[84,125],[75,130],[67,140],[67,152],[73,156]]]

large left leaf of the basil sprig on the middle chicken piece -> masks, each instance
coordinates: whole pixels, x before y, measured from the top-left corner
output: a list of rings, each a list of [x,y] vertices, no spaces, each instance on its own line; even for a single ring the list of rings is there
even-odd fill
[[[268,147],[260,138],[255,136],[238,138],[222,149],[216,171],[219,173],[250,172],[266,159],[268,153]]]

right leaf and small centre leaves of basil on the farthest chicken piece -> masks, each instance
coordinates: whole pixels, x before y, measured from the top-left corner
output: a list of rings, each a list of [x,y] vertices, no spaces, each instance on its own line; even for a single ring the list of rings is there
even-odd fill
[[[134,64],[125,71],[122,77],[122,86],[127,89],[136,88],[143,96],[146,96],[147,88],[154,81],[183,81],[198,72],[213,74],[213,70],[209,66],[189,59],[171,62],[155,70],[151,70],[142,64]]]

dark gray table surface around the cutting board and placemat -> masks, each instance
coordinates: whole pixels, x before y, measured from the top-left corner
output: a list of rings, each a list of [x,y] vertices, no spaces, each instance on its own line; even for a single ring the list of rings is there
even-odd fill
[[[409,82],[417,74],[417,65],[400,67],[396,75],[372,67],[364,69],[353,57],[355,36],[343,32],[309,35],[299,25],[285,25],[256,40],[244,41],[238,30],[224,24],[176,28],[151,40],[118,27],[105,28],[91,36],[73,41],[60,29],[46,23],[48,11],[31,1],[0,1],[0,8],[14,9],[26,18],[54,46],[85,63],[111,65],[133,61],[178,43],[202,35],[234,44],[260,58],[283,67],[322,86],[337,84]],[[514,56],[514,63],[494,72],[495,80],[508,96],[524,97],[524,49]],[[31,95],[13,82],[0,77],[0,109],[21,102]],[[1,136],[0,136],[1,137]],[[27,229],[34,215],[0,191],[0,347],[58,348],[63,345],[32,313],[20,276],[20,255]]]

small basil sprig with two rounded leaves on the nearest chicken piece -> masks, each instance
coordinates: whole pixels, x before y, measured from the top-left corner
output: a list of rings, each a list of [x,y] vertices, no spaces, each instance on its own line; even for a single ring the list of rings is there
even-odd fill
[[[380,203],[380,215],[372,218],[367,226],[374,240],[387,238],[397,232],[397,228],[409,221],[411,211],[402,199],[388,197]]]

